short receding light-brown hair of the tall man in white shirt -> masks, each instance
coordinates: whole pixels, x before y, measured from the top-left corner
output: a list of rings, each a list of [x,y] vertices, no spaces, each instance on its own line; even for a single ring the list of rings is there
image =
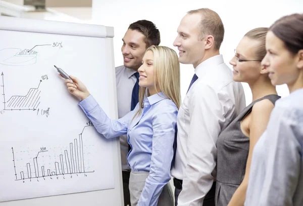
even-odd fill
[[[201,15],[199,40],[212,35],[215,39],[215,50],[219,50],[224,38],[224,25],[220,16],[215,11],[207,8],[190,10],[187,14]]]

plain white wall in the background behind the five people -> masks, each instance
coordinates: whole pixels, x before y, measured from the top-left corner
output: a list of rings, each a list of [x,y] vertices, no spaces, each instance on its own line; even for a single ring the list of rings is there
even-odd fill
[[[225,26],[225,37],[221,46],[225,62],[234,55],[233,49],[242,36],[256,27],[269,27],[278,18],[292,13],[303,13],[302,0],[255,0],[255,1],[197,1],[197,0],[92,0],[92,23],[115,28],[115,65],[122,65],[122,38],[130,23],[146,19],[156,24],[161,33],[161,44],[173,46],[177,27],[187,11],[210,8],[216,11]],[[229,64],[228,64],[229,65]],[[191,77],[192,65],[181,64],[181,95],[184,97]],[[251,102],[251,92],[243,84],[246,104]],[[286,87],[278,87],[281,96],[288,95]]]

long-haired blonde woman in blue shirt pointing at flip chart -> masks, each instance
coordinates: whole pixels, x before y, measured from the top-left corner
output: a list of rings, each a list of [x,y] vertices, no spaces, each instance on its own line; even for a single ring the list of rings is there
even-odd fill
[[[68,91],[81,99],[80,107],[106,138],[127,134],[131,150],[131,205],[173,205],[170,169],[175,124],[180,106],[180,68],[176,52],[149,47],[139,67],[139,103],[124,117],[110,119],[86,87],[75,77],[65,80]]]

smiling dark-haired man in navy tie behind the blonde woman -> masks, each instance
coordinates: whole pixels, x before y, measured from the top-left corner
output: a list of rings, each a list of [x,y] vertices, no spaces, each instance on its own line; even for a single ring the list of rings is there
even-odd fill
[[[138,102],[138,68],[141,66],[142,57],[151,45],[160,44],[160,32],[153,22],[139,20],[129,25],[123,39],[121,48],[124,65],[116,67],[116,85],[118,100],[118,116],[125,116]],[[120,136],[122,178],[124,205],[130,205],[129,173],[127,154],[129,145],[127,136]]]

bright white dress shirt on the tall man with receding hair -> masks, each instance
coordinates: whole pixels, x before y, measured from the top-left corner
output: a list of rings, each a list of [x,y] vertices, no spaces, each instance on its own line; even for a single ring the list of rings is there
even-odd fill
[[[241,83],[222,55],[195,68],[192,84],[179,109],[173,177],[183,180],[178,206],[200,206],[216,180],[217,139],[220,132],[245,107]]]

